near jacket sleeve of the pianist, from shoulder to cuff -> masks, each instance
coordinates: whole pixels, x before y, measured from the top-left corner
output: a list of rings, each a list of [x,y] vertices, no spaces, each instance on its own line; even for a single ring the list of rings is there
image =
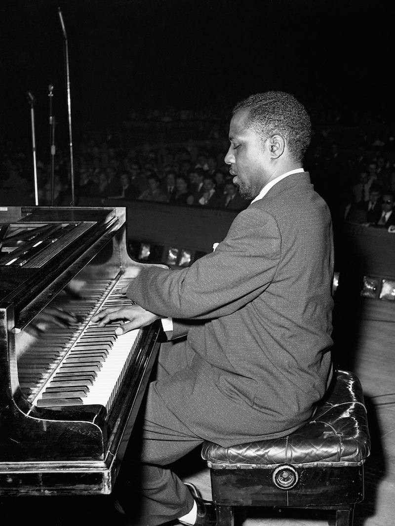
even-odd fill
[[[273,279],[281,255],[276,220],[258,206],[242,211],[215,252],[183,270],[150,267],[131,280],[127,296],[160,316],[211,319],[255,299]]]

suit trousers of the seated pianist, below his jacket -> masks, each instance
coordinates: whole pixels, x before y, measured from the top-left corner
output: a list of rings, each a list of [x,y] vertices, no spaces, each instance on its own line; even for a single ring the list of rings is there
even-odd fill
[[[160,374],[168,372],[161,369]],[[203,439],[166,407],[156,382],[148,388],[143,417],[135,426],[142,432],[129,441],[115,495],[130,524],[157,526],[182,517],[193,508],[192,495],[169,465],[202,444]]]

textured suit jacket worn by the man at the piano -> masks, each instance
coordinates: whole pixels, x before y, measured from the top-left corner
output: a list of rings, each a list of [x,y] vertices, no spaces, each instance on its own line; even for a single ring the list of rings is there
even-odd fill
[[[329,209],[306,172],[241,211],[191,267],[143,268],[127,296],[187,333],[183,368],[155,385],[166,406],[224,447],[305,424],[332,375],[332,274]]]

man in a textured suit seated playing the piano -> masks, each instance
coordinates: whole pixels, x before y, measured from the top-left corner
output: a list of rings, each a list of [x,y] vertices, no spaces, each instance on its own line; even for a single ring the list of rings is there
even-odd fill
[[[204,440],[286,436],[310,419],[332,376],[332,227],[302,168],[310,119],[292,95],[254,95],[236,105],[229,140],[230,174],[253,200],[226,238],[189,268],[136,264],[124,292],[137,305],[95,317],[126,320],[119,333],[171,318],[148,389],[141,503],[129,494],[136,471],[119,490],[139,526],[215,524],[214,506],[168,465]]]

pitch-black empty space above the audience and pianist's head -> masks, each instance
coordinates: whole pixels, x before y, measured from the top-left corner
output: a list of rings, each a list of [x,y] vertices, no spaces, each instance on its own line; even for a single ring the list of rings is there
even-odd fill
[[[346,119],[379,110],[392,118],[392,1],[4,0],[2,139],[31,133],[27,91],[37,140],[48,133],[49,84],[56,133],[67,139],[58,7],[75,141],[117,126],[132,108],[222,110],[268,89]]]

